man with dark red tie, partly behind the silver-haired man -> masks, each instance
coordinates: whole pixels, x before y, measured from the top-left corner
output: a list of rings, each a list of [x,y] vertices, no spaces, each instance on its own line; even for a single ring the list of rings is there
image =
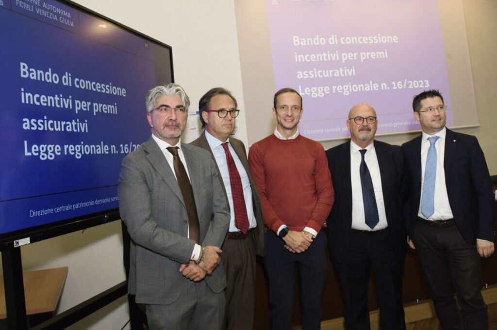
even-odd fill
[[[231,208],[222,254],[228,283],[224,324],[228,330],[252,330],[255,255],[265,254],[265,233],[259,192],[250,174],[245,145],[230,137],[240,110],[230,91],[221,87],[205,93],[198,108],[205,131],[191,144],[210,152]]]

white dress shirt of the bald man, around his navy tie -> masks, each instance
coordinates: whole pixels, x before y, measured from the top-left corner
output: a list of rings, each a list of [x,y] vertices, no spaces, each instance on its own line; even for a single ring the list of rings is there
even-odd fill
[[[364,217],[364,202],[362,200],[362,185],[360,176],[361,153],[362,148],[350,141],[350,181],[352,184],[352,229],[377,231],[388,227],[387,214],[385,212],[385,201],[383,200],[383,189],[381,186],[380,166],[374,148],[374,142],[369,144],[365,149],[364,161],[373,181],[374,195],[376,198],[376,206],[378,207],[379,222],[371,229]],[[388,175],[388,173],[385,173]]]

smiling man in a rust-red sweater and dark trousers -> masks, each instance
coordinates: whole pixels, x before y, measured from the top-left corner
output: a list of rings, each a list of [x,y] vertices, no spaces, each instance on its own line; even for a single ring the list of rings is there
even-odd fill
[[[292,329],[297,271],[302,327],[321,327],[327,271],[327,239],[321,227],[331,211],[334,194],[323,146],[297,130],[303,111],[297,91],[283,88],[276,92],[276,130],[254,143],[248,153],[264,223],[269,229],[264,266],[273,330]]]

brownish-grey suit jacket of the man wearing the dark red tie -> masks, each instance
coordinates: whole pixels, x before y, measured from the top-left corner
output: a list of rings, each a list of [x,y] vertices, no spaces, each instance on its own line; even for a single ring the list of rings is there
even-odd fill
[[[230,137],[230,143],[233,149],[235,150],[235,152],[237,153],[238,158],[240,158],[240,161],[242,162],[242,165],[244,166],[245,171],[247,172],[248,175],[248,181],[250,182],[250,188],[252,189],[253,212],[255,215],[255,221],[257,223],[257,227],[255,227],[253,235],[254,244],[255,244],[255,253],[263,257],[266,254],[266,235],[264,230],[264,221],[262,218],[262,207],[260,206],[259,191],[257,189],[257,186],[255,186],[255,183],[253,182],[252,179],[252,174],[250,173],[250,166],[248,165],[247,151],[245,150],[244,142],[234,137]],[[224,187],[223,178],[221,177],[221,172],[219,171],[219,167],[216,163],[216,159],[214,158],[214,154],[212,153],[211,147],[209,146],[209,142],[207,142],[207,138],[205,137],[205,131],[202,132],[202,135],[200,135],[199,138],[197,138],[190,144],[199,146],[209,151],[209,153],[211,154],[212,160],[214,161],[214,164],[218,172],[219,183],[221,184],[221,188],[223,189],[226,202],[229,205],[228,196],[226,194],[226,188]]]

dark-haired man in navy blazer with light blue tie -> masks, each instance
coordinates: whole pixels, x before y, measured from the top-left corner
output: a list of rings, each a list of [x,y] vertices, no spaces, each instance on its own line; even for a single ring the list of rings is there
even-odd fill
[[[443,330],[488,329],[481,259],[494,253],[494,195],[475,136],[445,127],[438,90],[414,96],[422,133],[402,145],[410,181],[408,243],[417,251]]]

